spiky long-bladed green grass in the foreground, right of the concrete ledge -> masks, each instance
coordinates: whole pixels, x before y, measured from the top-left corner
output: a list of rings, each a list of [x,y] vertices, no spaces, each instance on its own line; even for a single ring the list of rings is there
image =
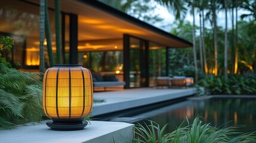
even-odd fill
[[[235,128],[212,127],[209,123],[203,123],[199,117],[190,125],[183,123],[171,133],[165,133],[167,124],[160,128],[158,123],[150,121],[150,125],[138,125],[134,129],[133,142],[187,142],[187,143],[208,143],[208,142],[255,142],[252,133],[240,133]]]

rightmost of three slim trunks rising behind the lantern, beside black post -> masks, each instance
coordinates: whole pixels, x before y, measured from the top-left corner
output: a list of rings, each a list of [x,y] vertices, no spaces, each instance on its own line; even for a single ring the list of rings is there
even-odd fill
[[[55,33],[56,33],[57,64],[62,64],[60,27],[61,27],[60,26],[60,0],[55,0]]]

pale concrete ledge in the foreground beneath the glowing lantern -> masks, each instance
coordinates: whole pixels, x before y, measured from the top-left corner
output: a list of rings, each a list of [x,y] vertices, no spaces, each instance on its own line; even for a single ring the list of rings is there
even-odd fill
[[[132,142],[134,125],[129,123],[90,121],[83,130],[55,131],[48,128],[46,122],[0,129],[0,142]]]

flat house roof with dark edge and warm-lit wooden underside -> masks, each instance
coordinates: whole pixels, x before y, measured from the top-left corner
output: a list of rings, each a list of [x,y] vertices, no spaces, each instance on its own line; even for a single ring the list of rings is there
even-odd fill
[[[39,0],[25,1],[39,4]],[[187,48],[193,46],[191,42],[158,29],[99,1],[61,0],[60,7],[63,13],[78,14],[78,48],[81,49],[87,48],[86,46],[82,47],[86,43],[92,41],[100,43],[101,41],[108,40],[113,41],[109,45],[119,44],[118,46],[122,47],[124,34],[146,39],[170,48]],[[54,0],[48,1],[48,8],[54,9]],[[103,46],[103,44],[101,45]],[[97,46],[100,46],[100,44]]]

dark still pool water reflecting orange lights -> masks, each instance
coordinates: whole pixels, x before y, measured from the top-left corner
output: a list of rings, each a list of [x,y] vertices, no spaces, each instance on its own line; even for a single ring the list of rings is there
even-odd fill
[[[211,123],[212,126],[235,126],[239,127],[240,132],[255,132],[256,98],[187,100],[137,115],[137,117],[141,116],[147,117],[147,119],[138,122],[140,124],[144,124],[144,122],[149,124],[148,120],[152,120],[163,127],[168,123],[166,132],[177,129],[186,117],[191,124],[198,116],[203,117],[201,120]]]

